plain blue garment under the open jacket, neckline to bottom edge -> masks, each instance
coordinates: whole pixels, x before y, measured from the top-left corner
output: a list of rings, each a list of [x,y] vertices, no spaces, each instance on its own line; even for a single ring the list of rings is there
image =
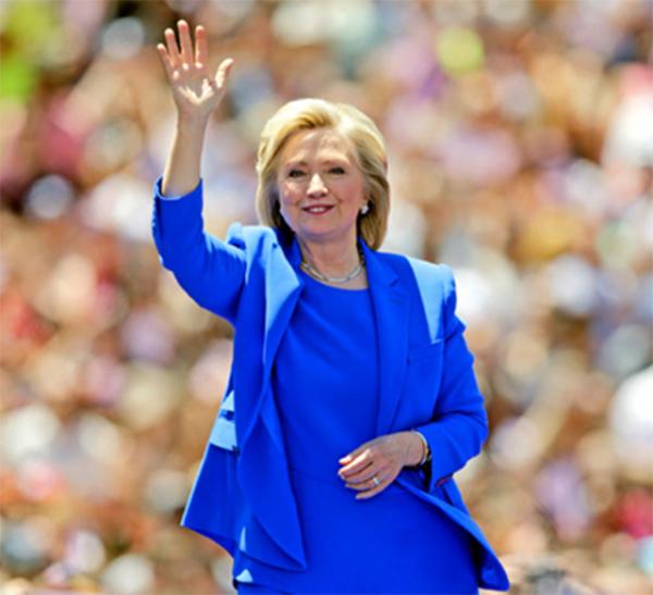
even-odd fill
[[[337,475],[338,459],[377,436],[372,300],[369,289],[342,289],[300,274],[306,285],[279,346],[273,387],[308,570],[284,571],[237,551],[234,577],[292,593],[476,593],[463,530],[396,484],[356,500]],[[307,365],[309,373],[296,373]],[[387,522],[397,515],[401,523]],[[439,561],[442,546],[458,551],[458,565],[447,569]]]

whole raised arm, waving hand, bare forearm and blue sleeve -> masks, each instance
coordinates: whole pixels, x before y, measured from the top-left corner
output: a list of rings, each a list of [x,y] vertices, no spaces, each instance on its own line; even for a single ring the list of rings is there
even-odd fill
[[[180,44],[165,29],[163,62],[177,112],[174,140],[161,179],[155,185],[152,235],[161,264],[172,271],[201,307],[234,322],[245,280],[246,258],[238,226],[226,241],[204,228],[201,151],[211,112],[224,97],[233,61],[211,76],[204,27],[196,28],[195,51],[188,24],[178,22]]]

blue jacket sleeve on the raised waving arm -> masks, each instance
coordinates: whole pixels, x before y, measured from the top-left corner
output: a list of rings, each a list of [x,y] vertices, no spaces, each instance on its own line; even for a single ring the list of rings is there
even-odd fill
[[[230,227],[226,241],[204,230],[202,181],[187,195],[163,197],[153,188],[152,236],[159,261],[202,308],[234,324],[245,283],[242,227]]]

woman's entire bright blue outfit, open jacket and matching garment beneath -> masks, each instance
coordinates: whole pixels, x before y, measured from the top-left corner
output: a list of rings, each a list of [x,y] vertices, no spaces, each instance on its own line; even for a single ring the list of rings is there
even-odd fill
[[[161,263],[235,327],[182,524],[234,556],[243,593],[507,590],[453,479],[488,422],[451,269],[361,240],[369,289],[332,288],[300,272],[296,241],[275,230],[234,224],[226,241],[204,232],[201,183],[175,198],[157,183]],[[337,459],[409,429],[432,461],[356,500]]]

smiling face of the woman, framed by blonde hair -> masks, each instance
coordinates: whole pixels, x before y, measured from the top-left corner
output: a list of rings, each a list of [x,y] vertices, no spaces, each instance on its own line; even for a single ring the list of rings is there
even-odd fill
[[[305,243],[356,245],[365,178],[352,141],[332,128],[298,131],[283,147],[276,174],[281,214]]]

